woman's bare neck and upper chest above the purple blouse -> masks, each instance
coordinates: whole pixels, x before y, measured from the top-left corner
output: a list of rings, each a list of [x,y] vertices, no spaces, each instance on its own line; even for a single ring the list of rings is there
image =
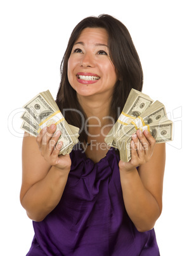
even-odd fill
[[[84,143],[84,152],[87,157],[98,162],[105,157],[110,148],[104,139],[114,125],[114,118],[110,117],[112,97],[77,97],[88,118],[84,124],[84,130],[88,135],[88,141]]]

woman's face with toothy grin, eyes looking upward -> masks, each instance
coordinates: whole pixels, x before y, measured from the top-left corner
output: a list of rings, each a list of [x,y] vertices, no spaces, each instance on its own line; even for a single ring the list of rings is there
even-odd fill
[[[68,81],[78,96],[112,96],[117,75],[105,29],[87,27],[81,32],[68,59]]]

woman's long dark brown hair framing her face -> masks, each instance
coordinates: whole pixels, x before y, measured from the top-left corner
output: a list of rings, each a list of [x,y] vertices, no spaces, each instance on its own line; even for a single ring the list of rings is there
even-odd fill
[[[82,110],[77,94],[68,82],[67,68],[68,59],[75,41],[79,38],[82,30],[86,27],[103,28],[108,32],[108,47],[110,58],[117,71],[117,83],[114,87],[112,103],[110,104],[110,116],[115,120],[118,118],[118,109],[122,110],[130,90],[140,90],[143,86],[143,71],[141,68],[138,53],[126,26],[110,15],[84,18],[76,25],[68,41],[67,50],[63,56],[60,71],[61,82],[56,96],[56,103],[62,111],[68,124],[75,125],[81,129],[82,123],[86,120],[86,114]],[[83,119],[84,118],[84,119]],[[81,129],[79,140],[87,142],[87,134]]]

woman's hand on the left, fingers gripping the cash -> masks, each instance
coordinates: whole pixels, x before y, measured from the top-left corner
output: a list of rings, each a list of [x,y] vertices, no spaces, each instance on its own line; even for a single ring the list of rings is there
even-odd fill
[[[58,155],[62,148],[62,141],[57,143],[61,132],[55,131],[55,124],[51,124],[49,127],[44,127],[36,138],[37,145],[39,146],[42,157],[51,166],[55,166],[59,169],[70,170],[70,155]]]

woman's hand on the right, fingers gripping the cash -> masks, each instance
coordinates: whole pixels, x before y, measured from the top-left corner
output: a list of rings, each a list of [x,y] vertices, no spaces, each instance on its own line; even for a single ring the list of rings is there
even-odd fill
[[[145,164],[151,159],[154,146],[155,139],[150,132],[137,130],[136,133],[132,135],[131,160],[129,162],[120,160],[119,168],[131,171],[136,167],[141,166],[141,164]]]

